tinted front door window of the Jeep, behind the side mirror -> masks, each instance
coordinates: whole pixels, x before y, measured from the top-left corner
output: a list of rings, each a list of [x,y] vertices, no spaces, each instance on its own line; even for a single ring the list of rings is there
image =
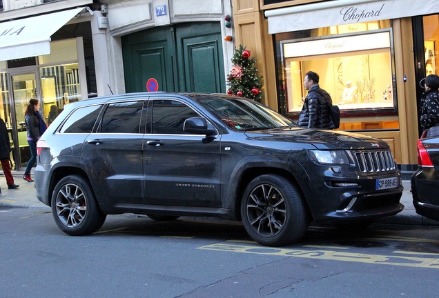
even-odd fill
[[[186,134],[183,131],[184,120],[191,117],[199,117],[199,115],[182,102],[155,100],[153,101],[152,132],[153,134]]]

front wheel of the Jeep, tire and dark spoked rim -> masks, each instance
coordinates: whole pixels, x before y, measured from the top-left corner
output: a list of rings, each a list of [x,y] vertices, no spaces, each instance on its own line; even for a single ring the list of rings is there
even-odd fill
[[[278,175],[253,179],[241,202],[244,228],[264,246],[291,244],[308,228],[306,210],[295,186]]]

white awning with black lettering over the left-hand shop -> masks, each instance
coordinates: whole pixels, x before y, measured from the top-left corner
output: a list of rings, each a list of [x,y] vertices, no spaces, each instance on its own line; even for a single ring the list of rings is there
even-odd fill
[[[83,9],[0,23],[0,61],[50,54],[50,36]]]

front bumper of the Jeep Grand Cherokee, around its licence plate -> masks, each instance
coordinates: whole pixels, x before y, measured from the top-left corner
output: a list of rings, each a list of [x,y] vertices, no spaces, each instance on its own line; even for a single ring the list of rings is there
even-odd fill
[[[322,170],[322,169],[321,169]],[[321,224],[349,224],[373,221],[396,215],[404,210],[400,203],[402,180],[398,170],[388,172],[359,173],[349,168],[334,171],[323,169],[320,175],[309,177],[313,194],[304,194],[313,221]],[[378,179],[396,178],[392,188],[376,189]]]

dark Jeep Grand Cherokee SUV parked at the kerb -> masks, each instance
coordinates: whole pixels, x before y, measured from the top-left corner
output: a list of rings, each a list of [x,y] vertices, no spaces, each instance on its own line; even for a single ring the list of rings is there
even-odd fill
[[[297,241],[311,221],[395,215],[400,172],[384,141],[302,129],[228,95],[136,93],[65,106],[37,143],[38,199],[69,235],[107,215],[240,220],[260,244]]]

